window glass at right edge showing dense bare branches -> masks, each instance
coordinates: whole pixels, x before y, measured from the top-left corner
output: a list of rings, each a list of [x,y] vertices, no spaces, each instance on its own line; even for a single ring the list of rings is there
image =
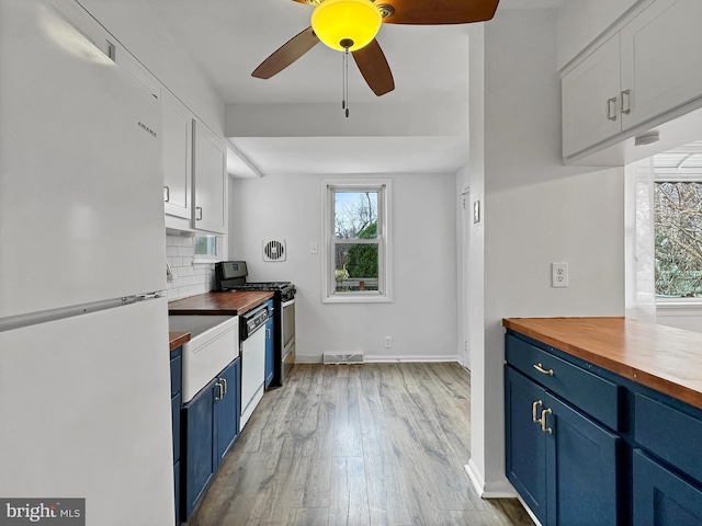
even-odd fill
[[[702,298],[702,182],[657,181],[656,296]]]

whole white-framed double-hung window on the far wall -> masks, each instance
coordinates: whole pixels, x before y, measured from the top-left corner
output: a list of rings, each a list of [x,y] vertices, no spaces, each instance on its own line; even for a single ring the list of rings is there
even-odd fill
[[[389,301],[389,180],[325,181],[324,301]]]

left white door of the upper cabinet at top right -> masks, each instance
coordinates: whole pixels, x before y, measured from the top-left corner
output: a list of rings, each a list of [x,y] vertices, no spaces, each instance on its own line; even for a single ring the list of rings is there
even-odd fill
[[[561,87],[563,157],[582,151],[620,133],[619,35],[607,41],[564,76]]]

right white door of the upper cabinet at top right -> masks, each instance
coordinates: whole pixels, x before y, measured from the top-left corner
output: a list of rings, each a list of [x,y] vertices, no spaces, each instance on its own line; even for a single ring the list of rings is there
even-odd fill
[[[702,1],[658,0],[621,38],[625,129],[702,96]]]

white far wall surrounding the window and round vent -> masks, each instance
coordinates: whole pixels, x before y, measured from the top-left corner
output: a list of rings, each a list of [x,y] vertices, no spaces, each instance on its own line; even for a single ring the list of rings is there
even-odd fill
[[[327,176],[265,176],[230,185],[229,255],[248,262],[250,281],[295,283],[298,362],[320,362],[326,351],[363,351],[369,361],[457,359],[455,176],[389,176],[390,304],[321,302],[322,255],[310,254],[309,243],[321,247],[321,181]],[[262,261],[262,240],[271,238],[286,240],[287,261]],[[389,350],[383,347],[386,335],[393,338]]]

